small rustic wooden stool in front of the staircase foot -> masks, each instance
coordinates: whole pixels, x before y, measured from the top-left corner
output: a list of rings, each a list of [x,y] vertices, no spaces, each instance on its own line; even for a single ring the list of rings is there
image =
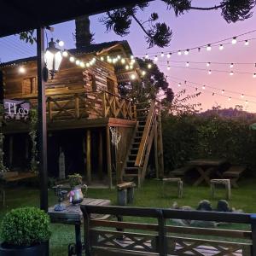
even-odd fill
[[[125,206],[127,203],[133,203],[135,183],[119,183],[117,186],[118,205]]]

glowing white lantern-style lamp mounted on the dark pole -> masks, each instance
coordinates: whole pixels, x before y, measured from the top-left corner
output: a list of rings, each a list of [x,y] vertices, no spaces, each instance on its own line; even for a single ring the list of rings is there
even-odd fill
[[[62,61],[61,49],[57,49],[55,44],[53,38],[51,38],[44,55],[46,67],[49,70],[51,79],[54,79],[55,73],[58,72]]]

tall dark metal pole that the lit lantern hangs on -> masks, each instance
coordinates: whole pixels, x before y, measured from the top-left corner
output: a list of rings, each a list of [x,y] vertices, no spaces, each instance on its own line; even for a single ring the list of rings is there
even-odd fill
[[[38,154],[40,180],[40,207],[48,212],[48,173],[47,173],[47,126],[44,81],[44,27],[37,29],[38,50]]]

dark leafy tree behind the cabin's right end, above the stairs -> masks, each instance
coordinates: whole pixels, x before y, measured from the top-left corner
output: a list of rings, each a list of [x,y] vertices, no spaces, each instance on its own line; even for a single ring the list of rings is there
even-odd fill
[[[169,88],[164,73],[160,72],[159,67],[153,61],[137,58],[137,63],[141,70],[147,70],[144,76],[130,83],[119,84],[119,92],[122,96],[131,98],[135,103],[150,102],[157,98],[160,91],[163,92],[163,99],[166,102],[172,102],[173,91]],[[151,68],[148,69],[148,65]]]

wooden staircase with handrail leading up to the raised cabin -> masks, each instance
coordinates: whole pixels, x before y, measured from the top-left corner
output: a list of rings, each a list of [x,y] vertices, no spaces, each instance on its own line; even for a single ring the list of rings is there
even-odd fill
[[[155,155],[158,158],[159,149],[162,152],[161,126],[160,126],[160,108],[155,102],[150,106],[143,105],[143,108],[137,106],[137,127],[131,140],[130,148],[126,156],[122,178],[131,180],[136,178],[138,187],[143,182],[148,166],[148,157],[152,144],[155,140]],[[160,137],[159,137],[160,136]],[[160,143],[158,143],[160,139]],[[160,147],[159,147],[160,146]],[[156,169],[159,168],[159,160],[156,160]],[[161,160],[163,166],[163,161]]]

